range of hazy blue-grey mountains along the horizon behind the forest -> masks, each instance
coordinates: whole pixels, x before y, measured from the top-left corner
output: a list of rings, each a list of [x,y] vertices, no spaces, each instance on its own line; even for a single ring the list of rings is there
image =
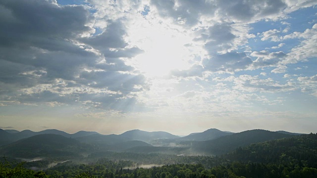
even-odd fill
[[[81,157],[96,151],[124,151],[180,155],[220,155],[251,143],[295,136],[295,133],[251,130],[241,133],[209,129],[184,137],[166,132],[127,131],[103,135],[80,131],[68,134],[58,130],[41,132],[0,129],[0,154],[20,158],[39,156]],[[158,143],[161,146],[157,146]],[[155,146],[154,146],[155,145]]]

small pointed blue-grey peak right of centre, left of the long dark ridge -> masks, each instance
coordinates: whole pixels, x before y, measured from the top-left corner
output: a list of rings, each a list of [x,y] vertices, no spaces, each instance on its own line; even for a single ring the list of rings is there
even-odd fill
[[[233,134],[233,133],[222,132],[222,131],[219,131],[218,129],[209,129],[202,133],[193,133],[187,136],[183,136],[181,138],[178,138],[177,140],[205,141],[205,140],[211,140],[211,139],[215,139],[215,138],[225,136],[225,135],[230,135],[230,134]]]

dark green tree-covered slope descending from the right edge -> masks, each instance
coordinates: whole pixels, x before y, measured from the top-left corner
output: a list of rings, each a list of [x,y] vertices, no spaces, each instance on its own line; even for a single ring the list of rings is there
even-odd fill
[[[305,134],[254,143],[223,158],[239,162],[296,164],[317,168],[317,134]]]

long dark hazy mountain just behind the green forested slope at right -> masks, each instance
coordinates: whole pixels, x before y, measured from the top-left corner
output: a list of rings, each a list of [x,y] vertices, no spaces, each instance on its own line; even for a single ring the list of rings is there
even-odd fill
[[[220,155],[251,143],[264,142],[273,139],[292,137],[294,135],[281,134],[265,130],[244,131],[237,134],[222,136],[207,141],[186,141],[181,144],[191,145],[196,152],[211,155]]]

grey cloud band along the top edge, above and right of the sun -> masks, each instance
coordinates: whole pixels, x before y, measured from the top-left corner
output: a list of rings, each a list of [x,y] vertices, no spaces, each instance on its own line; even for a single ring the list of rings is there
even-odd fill
[[[287,5],[282,0],[151,0],[162,17],[172,17],[175,23],[194,26],[201,16],[243,22],[270,18],[279,14]],[[181,23],[184,21],[184,23]]]

